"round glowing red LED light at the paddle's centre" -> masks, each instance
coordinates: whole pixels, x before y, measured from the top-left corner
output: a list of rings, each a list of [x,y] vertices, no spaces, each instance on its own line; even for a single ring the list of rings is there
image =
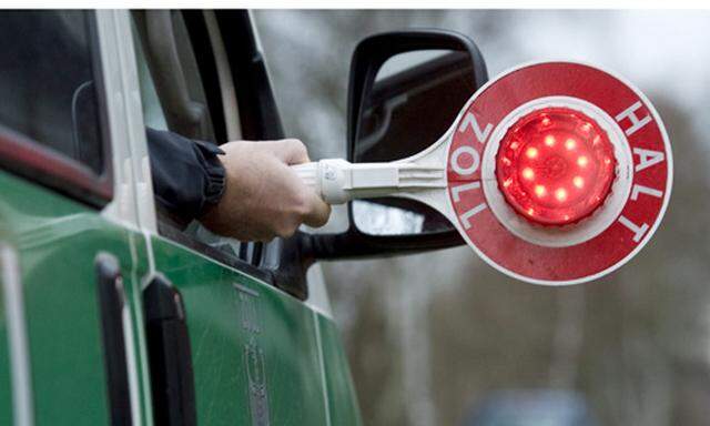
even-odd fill
[[[506,201],[528,220],[566,225],[589,216],[610,192],[613,145],[590,118],[546,108],[519,119],[500,141],[496,178]]]

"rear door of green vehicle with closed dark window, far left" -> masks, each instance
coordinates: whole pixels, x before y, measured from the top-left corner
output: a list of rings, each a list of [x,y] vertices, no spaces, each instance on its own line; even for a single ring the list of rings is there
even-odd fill
[[[0,13],[3,425],[144,419],[148,252],[123,162],[122,75],[100,27],[92,11]]]

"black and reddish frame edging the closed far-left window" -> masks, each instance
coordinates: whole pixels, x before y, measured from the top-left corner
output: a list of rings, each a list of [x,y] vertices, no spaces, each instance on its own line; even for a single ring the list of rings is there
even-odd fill
[[[83,11],[89,30],[97,115],[102,149],[102,172],[55,151],[0,123],[0,168],[40,183],[90,206],[100,209],[113,200],[113,162],[106,95],[95,11]]]

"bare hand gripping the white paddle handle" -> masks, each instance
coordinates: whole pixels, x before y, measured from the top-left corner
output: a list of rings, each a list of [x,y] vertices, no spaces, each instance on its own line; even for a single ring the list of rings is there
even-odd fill
[[[241,241],[288,237],[302,223],[325,225],[331,206],[288,166],[310,161],[296,139],[229,142],[220,146],[226,186],[220,202],[201,222],[210,230]]]

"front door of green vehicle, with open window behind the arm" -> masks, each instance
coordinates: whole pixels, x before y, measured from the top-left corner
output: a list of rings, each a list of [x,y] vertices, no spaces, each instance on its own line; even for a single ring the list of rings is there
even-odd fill
[[[214,143],[281,136],[271,88],[257,84],[267,83],[260,80],[266,77],[263,61],[239,57],[256,45],[248,16],[235,14],[133,13],[146,126]],[[170,37],[161,44],[178,55],[151,42],[158,32]],[[176,77],[158,70],[181,71]],[[182,90],[209,115],[193,124],[181,116],[170,99]],[[276,284],[280,271],[290,267],[278,263],[278,247],[287,243],[276,242],[270,252],[213,235],[199,223],[180,226],[165,212],[156,217],[156,229],[148,230],[155,277],[144,294],[155,423],[354,424],[356,409],[349,413],[355,422],[331,422],[337,416],[329,415],[327,386],[351,385],[349,373],[344,357],[323,357],[324,342],[339,339],[329,323],[322,335],[321,314],[304,303],[307,291],[298,288],[305,276]],[[335,372],[333,381],[326,371]],[[348,389],[343,400],[356,407]]]

